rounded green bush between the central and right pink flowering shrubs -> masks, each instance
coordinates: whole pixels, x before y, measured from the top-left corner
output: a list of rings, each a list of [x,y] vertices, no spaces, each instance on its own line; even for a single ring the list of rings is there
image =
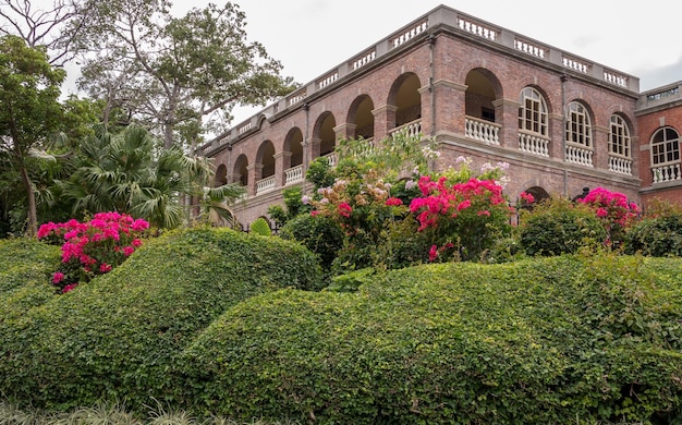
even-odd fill
[[[551,198],[522,211],[519,238],[527,255],[576,253],[581,247],[597,247],[607,231],[594,211],[584,204]],[[527,214],[526,214],[527,212]]]

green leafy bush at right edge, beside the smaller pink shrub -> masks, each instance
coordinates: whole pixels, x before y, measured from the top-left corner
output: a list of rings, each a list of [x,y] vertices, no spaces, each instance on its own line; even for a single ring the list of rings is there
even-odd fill
[[[625,234],[625,253],[655,257],[682,256],[682,206],[653,203]]]

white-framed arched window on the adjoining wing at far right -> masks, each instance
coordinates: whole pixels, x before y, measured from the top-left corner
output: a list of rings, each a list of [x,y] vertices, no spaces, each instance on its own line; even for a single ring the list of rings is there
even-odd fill
[[[682,180],[680,170],[680,135],[665,127],[651,137],[651,173],[654,183]]]

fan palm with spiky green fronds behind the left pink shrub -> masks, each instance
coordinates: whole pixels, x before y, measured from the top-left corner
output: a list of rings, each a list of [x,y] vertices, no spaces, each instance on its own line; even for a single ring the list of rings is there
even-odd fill
[[[180,226],[185,219],[180,199],[203,195],[211,175],[209,162],[176,146],[155,154],[156,142],[141,126],[131,125],[118,135],[98,126],[81,144],[76,171],[61,184],[73,202],[74,217],[115,210],[157,228]],[[227,185],[211,193],[230,196],[236,192]]]

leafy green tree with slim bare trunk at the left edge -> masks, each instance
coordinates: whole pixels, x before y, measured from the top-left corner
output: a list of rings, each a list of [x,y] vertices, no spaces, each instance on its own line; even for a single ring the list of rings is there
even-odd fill
[[[28,233],[38,230],[31,169],[49,137],[63,126],[59,104],[65,72],[53,69],[45,48],[31,48],[20,37],[0,38],[0,157],[26,193]]]

